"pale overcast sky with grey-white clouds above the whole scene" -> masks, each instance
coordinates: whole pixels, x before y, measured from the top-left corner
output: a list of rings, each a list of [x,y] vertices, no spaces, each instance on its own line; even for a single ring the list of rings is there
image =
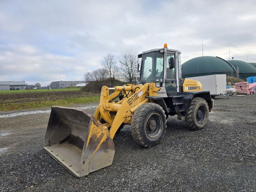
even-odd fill
[[[256,1],[0,0],[0,81],[84,80],[108,52],[256,62]]]

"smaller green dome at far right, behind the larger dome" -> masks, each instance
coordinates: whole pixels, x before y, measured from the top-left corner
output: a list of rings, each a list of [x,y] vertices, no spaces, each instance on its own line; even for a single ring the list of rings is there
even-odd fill
[[[247,77],[256,76],[256,68],[251,64],[240,61],[240,60],[227,60],[236,69],[238,67],[238,77],[241,79],[246,79]]]

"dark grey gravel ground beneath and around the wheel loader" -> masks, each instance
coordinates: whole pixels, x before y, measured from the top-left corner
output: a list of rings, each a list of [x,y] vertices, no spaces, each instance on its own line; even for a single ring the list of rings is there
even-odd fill
[[[256,191],[255,101],[216,97],[200,131],[169,117],[153,148],[135,144],[125,125],[114,138],[113,164],[82,180],[43,149],[49,113],[0,118],[1,191]],[[86,108],[93,114],[95,103]]]

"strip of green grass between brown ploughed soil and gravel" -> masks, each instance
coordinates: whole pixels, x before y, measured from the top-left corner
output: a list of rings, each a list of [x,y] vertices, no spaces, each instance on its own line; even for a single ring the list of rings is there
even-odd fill
[[[9,103],[9,104],[0,104],[0,111],[47,108],[53,105],[69,106],[74,104],[92,103],[92,102],[99,102],[99,101],[100,101],[100,96],[90,96],[90,97],[83,97],[83,98],[67,98],[67,99],[52,100],[52,101]]]

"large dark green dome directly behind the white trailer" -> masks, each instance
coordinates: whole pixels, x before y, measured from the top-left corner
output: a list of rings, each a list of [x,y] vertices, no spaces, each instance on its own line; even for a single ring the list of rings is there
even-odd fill
[[[236,74],[236,68],[220,57],[196,57],[182,64],[182,78],[226,74]]]

